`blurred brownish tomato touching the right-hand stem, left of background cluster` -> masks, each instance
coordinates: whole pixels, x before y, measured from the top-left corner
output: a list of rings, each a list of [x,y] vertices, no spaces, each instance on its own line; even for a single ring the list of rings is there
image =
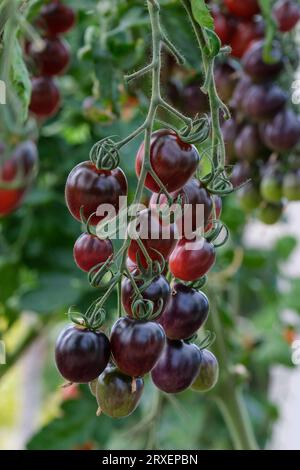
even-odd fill
[[[235,62],[228,60],[215,67],[215,82],[218,94],[225,103],[231,99],[238,82],[238,67]]]

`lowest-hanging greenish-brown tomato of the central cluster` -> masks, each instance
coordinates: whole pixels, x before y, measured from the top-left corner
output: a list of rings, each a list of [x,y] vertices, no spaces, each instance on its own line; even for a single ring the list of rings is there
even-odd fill
[[[132,381],[132,377],[108,366],[96,383],[96,398],[101,412],[111,418],[125,418],[131,415],[144,390],[144,380],[141,377],[135,379],[134,390]]]

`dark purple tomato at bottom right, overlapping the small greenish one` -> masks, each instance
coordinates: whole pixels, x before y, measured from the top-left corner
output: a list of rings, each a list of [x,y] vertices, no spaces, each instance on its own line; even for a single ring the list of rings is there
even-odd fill
[[[201,350],[195,344],[167,339],[163,353],[151,372],[153,383],[166,393],[189,388],[200,371]]]

